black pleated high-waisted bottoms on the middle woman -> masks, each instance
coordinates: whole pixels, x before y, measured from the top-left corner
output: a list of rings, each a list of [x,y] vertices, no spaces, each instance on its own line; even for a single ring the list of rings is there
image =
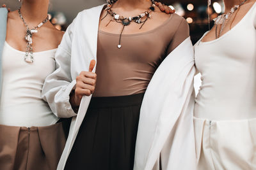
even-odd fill
[[[92,97],[65,169],[133,169],[143,96]]]

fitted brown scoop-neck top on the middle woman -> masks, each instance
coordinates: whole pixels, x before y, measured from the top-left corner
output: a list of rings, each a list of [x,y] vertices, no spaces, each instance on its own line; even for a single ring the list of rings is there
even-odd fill
[[[186,20],[172,14],[163,25],[139,34],[99,31],[97,84],[94,97],[128,96],[145,92],[164,58],[189,36]]]

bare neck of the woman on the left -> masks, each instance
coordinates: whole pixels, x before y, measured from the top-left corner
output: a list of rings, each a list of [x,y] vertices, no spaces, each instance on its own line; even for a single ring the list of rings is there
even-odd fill
[[[38,24],[47,17],[49,0],[23,0],[20,12],[31,24]]]

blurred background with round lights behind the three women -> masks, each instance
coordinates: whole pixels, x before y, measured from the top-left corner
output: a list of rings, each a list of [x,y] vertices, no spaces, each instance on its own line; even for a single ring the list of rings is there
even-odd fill
[[[194,44],[200,39],[205,31],[209,30],[207,0],[160,1],[161,3],[175,8],[177,14],[186,18],[190,27],[191,39]],[[3,3],[11,8],[11,10],[17,10],[20,6],[18,0],[0,0],[0,4]],[[56,25],[56,28],[65,31],[79,11],[104,3],[106,3],[105,0],[51,0],[49,6],[51,22]],[[212,0],[212,4],[209,8],[210,20],[212,21],[213,18],[216,18],[223,10],[224,6],[222,1]]]

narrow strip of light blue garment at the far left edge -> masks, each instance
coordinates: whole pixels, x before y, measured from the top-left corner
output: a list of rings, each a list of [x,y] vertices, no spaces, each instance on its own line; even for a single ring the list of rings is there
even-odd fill
[[[0,8],[0,96],[2,90],[2,53],[6,38],[6,22],[8,11],[6,8]]]

